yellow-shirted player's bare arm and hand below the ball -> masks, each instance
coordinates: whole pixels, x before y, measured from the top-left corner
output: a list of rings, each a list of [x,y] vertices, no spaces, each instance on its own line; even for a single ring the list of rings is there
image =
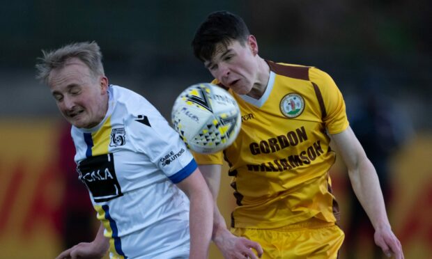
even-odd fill
[[[255,249],[259,257],[263,254],[261,246],[244,237],[236,237],[227,228],[226,222],[217,207],[220,175],[222,166],[219,164],[200,165],[199,169],[206,179],[207,185],[213,195],[213,234],[212,240],[222,252],[224,258],[257,258],[251,249]]]

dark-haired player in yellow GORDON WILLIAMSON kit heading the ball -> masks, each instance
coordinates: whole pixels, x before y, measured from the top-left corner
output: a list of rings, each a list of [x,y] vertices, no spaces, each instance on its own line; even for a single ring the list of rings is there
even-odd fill
[[[387,219],[373,165],[350,129],[344,98],[317,68],[267,61],[245,22],[210,14],[192,41],[194,54],[228,89],[242,113],[236,141],[223,152],[194,154],[217,197],[223,159],[237,207],[231,232],[215,208],[213,241],[225,258],[337,258],[344,233],[328,171],[335,154],[348,167],[357,198],[387,256],[403,258]]]

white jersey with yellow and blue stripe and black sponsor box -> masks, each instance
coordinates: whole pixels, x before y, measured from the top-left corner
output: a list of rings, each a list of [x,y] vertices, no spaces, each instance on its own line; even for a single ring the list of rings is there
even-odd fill
[[[159,111],[109,86],[104,120],[71,132],[79,180],[105,226],[111,258],[187,258],[189,200],[174,183],[197,166]]]

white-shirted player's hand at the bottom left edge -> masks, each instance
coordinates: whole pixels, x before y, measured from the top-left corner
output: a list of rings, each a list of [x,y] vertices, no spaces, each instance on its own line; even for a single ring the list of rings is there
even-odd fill
[[[108,247],[100,247],[91,243],[79,243],[70,249],[63,251],[56,259],[100,259],[107,253]]]

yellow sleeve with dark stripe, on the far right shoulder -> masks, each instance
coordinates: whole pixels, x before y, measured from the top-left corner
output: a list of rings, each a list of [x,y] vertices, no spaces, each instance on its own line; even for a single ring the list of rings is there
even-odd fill
[[[318,86],[323,96],[326,113],[323,120],[329,134],[337,134],[346,130],[349,123],[346,117],[344,97],[332,77],[318,68],[311,68],[309,78]]]

